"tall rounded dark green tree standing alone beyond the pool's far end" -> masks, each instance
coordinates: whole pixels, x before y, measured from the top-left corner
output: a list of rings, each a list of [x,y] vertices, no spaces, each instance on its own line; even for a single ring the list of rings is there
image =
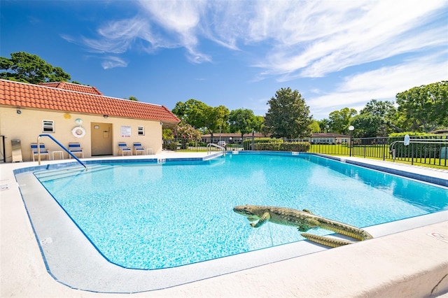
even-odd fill
[[[297,90],[281,88],[267,104],[269,109],[265,116],[265,125],[271,129],[272,136],[295,139],[311,135],[309,106]]]

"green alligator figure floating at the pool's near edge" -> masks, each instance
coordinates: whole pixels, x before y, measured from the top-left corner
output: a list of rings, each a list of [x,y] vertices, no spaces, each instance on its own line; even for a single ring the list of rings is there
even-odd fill
[[[251,227],[261,227],[261,225],[269,221],[279,225],[297,227],[300,232],[307,232],[309,229],[321,228],[328,229],[332,232],[337,232],[360,241],[373,238],[372,235],[363,229],[314,215],[307,209],[300,211],[292,208],[274,206],[244,205],[236,206],[233,208],[233,211],[246,216],[246,218],[251,222]],[[258,220],[258,222],[255,222],[256,220]],[[353,243],[353,241],[335,239],[328,236],[318,236],[309,233],[302,233],[301,235],[309,241],[333,248]]]

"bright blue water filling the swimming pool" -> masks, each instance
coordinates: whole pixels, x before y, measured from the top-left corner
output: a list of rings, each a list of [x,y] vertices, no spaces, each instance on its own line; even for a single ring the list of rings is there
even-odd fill
[[[42,184],[106,259],[133,269],[304,240],[293,227],[251,228],[236,205],[307,208],[357,227],[448,209],[443,187],[314,155],[116,164]]]

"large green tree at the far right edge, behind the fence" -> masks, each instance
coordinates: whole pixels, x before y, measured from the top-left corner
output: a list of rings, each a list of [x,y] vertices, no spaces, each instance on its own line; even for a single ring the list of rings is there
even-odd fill
[[[430,132],[448,126],[448,81],[413,87],[396,95],[405,131]]]

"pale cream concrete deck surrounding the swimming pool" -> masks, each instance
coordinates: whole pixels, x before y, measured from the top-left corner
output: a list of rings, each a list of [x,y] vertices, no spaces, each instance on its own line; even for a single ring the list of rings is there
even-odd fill
[[[150,158],[204,157],[162,153]],[[119,157],[113,157],[119,158]],[[132,157],[132,158],[141,158]],[[342,157],[391,170],[448,180],[447,170]],[[67,161],[67,160],[65,160]],[[73,161],[73,159],[72,159]],[[60,161],[43,161],[42,164]],[[43,262],[14,169],[37,162],[0,164],[0,297],[125,297],[70,288]],[[301,257],[239,270],[135,297],[433,297],[448,292],[448,211],[442,220]],[[422,217],[423,218],[423,217]],[[416,218],[419,220],[419,218]],[[369,231],[370,232],[370,231]],[[377,232],[377,231],[372,231]],[[170,276],[167,276],[170,278]],[[123,278],[123,281],[127,278]],[[120,278],[118,278],[119,283]],[[111,285],[113,288],[113,285]],[[129,295],[129,294],[128,294]]]

